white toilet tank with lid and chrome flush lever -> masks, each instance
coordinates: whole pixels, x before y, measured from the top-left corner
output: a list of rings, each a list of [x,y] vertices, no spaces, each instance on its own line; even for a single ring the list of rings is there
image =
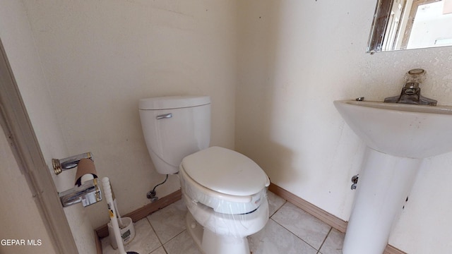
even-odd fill
[[[141,127],[149,155],[160,174],[175,174],[187,155],[210,143],[210,97],[140,99]]]

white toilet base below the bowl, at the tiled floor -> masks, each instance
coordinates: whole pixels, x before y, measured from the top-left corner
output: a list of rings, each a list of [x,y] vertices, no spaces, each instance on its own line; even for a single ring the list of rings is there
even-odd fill
[[[215,234],[196,222],[190,212],[186,214],[186,229],[203,254],[249,254],[248,239]]]

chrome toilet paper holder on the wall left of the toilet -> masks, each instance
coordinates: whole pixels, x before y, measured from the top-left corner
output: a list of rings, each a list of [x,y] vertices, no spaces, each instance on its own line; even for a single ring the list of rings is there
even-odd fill
[[[58,193],[63,207],[68,207],[79,202],[82,203],[83,207],[87,207],[88,205],[93,205],[94,203],[102,200],[102,193],[100,191],[100,186],[97,184],[97,176],[95,175],[95,167],[93,164],[93,154],[91,152],[85,152],[81,155],[74,155],[64,159],[52,159],[55,174],[60,174],[62,171],[77,167],[82,159],[91,160],[91,162],[86,160],[83,163],[86,165],[88,162],[88,166],[85,166],[85,168],[88,167],[92,169],[93,176],[86,181],[81,181],[83,177],[80,177],[80,179],[76,179],[76,186]]]

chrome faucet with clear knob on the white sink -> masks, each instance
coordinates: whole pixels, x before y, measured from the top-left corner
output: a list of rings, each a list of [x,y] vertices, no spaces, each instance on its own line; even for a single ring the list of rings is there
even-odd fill
[[[421,95],[420,83],[425,80],[426,71],[417,68],[408,71],[405,74],[405,85],[402,87],[400,95],[387,97],[384,102],[405,103],[405,104],[422,104],[436,106],[435,99],[429,99]]]

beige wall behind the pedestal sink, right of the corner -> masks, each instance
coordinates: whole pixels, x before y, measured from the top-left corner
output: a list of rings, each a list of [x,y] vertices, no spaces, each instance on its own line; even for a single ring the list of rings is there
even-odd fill
[[[364,144],[335,99],[398,95],[424,68],[422,94],[452,105],[452,47],[365,54],[376,1],[239,1],[236,149],[273,183],[347,220]],[[452,154],[426,159],[390,243],[447,253]]]

